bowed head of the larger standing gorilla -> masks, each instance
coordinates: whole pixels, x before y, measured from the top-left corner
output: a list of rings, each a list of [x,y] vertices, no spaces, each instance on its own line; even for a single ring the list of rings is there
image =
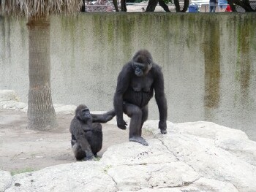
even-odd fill
[[[148,74],[153,65],[153,58],[148,50],[139,50],[133,56],[132,61],[132,68],[138,77]]]

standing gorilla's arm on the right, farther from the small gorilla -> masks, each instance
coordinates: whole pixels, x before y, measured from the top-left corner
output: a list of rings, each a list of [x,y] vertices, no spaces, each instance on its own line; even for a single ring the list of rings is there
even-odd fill
[[[159,128],[162,134],[167,134],[167,100],[165,98],[164,76],[159,66],[154,67],[154,91],[159,110]]]

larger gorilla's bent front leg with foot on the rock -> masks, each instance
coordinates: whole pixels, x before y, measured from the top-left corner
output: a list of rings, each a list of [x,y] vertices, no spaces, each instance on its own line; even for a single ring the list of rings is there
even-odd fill
[[[140,110],[140,107],[134,104],[124,104],[124,113],[126,113],[129,118],[131,118],[129,123],[129,141],[130,142],[139,142],[142,145],[148,145],[143,137],[141,137],[141,123],[143,112]]]

